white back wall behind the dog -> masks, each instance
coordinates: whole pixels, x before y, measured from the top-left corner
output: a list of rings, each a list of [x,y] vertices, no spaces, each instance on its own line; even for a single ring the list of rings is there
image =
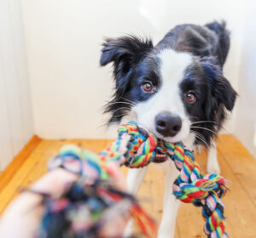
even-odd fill
[[[173,26],[227,20],[232,31],[224,68],[237,87],[243,1],[21,0],[32,85],[35,133],[43,138],[105,138],[98,128],[109,99],[110,67],[99,68],[103,37],[126,33],[160,40]],[[233,132],[234,122],[227,125]]]

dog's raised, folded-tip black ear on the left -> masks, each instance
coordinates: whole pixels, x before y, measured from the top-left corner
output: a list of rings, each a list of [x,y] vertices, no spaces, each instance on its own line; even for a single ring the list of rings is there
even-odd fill
[[[134,36],[108,38],[103,43],[100,63],[102,66],[113,63],[113,77],[117,90],[125,89],[132,67],[152,48],[153,43],[150,39]]]

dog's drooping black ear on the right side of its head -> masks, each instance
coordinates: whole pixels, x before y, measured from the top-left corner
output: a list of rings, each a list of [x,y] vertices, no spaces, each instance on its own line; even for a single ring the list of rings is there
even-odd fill
[[[232,111],[236,102],[236,91],[223,76],[222,68],[217,62],[217,59],[211,57],[201,59],[201,66],[208,84],[207,114],[211,113],[212,108],[217,111],[220,105]]]

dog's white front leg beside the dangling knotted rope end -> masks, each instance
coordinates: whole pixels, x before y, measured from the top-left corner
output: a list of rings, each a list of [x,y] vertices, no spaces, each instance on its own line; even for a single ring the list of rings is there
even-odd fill
[[[165,196],[163,205],[163,216],[158,231],[158,238],[172,238],[175,233],[175,224],[177,217],[177,209],[179,201],[172,194],[172,184],[177,178],[178,171],[175,165],[167,161],[166,167],[166,185],[165,185]]]

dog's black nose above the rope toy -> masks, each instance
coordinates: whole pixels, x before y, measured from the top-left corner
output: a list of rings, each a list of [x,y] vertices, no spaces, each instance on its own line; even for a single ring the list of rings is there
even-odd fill
[[[182,120],[169,111],[162,111],[155,116],[155,127],[156,131],[165,137],[175,136],[182,127]]]

